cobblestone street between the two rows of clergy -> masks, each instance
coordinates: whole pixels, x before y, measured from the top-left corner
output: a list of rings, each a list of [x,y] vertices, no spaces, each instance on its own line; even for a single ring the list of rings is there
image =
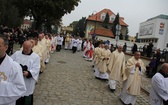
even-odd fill
[[[123,105],[119,100],[120,85],[112,93],[107,81],[97,80],[82,52],[61,50],[51,54],[50,62],[39,77],[34,105]],[[149,105],[141,92],[136,105]]]

